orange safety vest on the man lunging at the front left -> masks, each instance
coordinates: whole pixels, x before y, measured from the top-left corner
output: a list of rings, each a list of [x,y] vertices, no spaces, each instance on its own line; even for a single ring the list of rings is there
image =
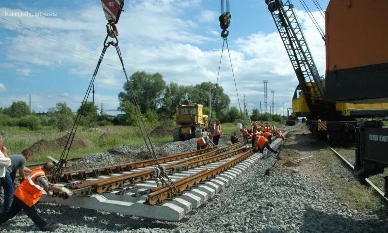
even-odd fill
[[[14,195],[30,207],[38,202],[43,194],[43,187],[35,182],[35,178],[41,175],[46,176],[43,168],[35,168],[15,190]]]

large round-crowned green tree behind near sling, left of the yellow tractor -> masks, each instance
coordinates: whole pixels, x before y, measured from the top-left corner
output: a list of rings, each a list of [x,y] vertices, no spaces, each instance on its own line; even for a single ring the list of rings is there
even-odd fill
[[[147,109],[156,110],[161,104],[162,94],[166,88],[166,83],[161,74],[147,74],[146,72],[136,72],[129,78],[134,97],[142,113]],[[124,84],[124,92],[118,94],[120,110],[124,110],[126,101],[134,103],[129,90],[128,83]]]

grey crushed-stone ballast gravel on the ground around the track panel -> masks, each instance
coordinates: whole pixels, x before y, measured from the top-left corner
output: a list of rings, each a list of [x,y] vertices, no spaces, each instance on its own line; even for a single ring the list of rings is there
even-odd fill
[[[188,142],[177,147],[183,144]],[[193,209],[180,222],[53,203],[40,203],[37,207],[50,223],[59,223],[56,232],[63,233],[385,232],[380,212],[361,213],[348,208],[337,202],[334,193],[326,189],[321,181],[297,173],[264,175],[274,163],[274,155],[259,160],[229,187],[200,208]],[[0,232],[39,231],[29,217],[19,214],[0,225]]]

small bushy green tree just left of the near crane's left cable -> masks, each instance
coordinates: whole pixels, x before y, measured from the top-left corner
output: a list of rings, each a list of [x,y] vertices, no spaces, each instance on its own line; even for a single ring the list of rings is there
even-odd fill
[[[74,124],[73,112],[65,102],[58,102],[56,107],[49,108],[48,115],[60,131],[65,131]]]

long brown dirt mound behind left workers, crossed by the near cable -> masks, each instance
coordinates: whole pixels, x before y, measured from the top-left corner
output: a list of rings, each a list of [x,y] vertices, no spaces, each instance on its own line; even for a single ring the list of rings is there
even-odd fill
[[[56,139],[56,140],[45,140],[41,139],[37,142],[35,142],[30,148],[28,148],[32,153],[40,153],[42,151],[58,151],[63,150],[63,148],[66,145],[66,142],[70,136],[70,133],[66,134],[65,136]],[[93,142],[90,140],[82,137],[79,134],[76,134],[74,136],[73,142],[71,143],[71,149],[78,149],[78,148],[85,148],[88,146],[93,145]]]

